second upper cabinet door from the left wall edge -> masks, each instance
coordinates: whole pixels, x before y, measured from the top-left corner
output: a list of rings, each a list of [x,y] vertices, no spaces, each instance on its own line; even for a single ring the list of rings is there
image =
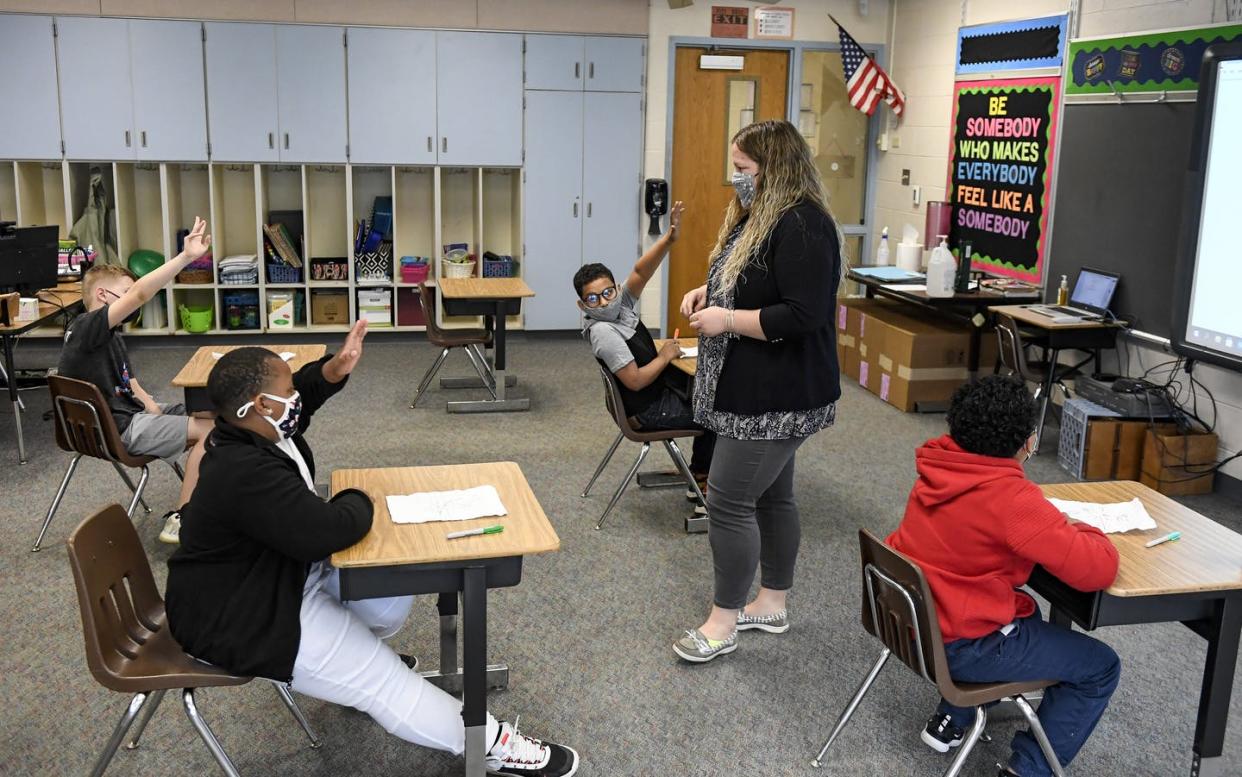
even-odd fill
[[[61,16],[56,27],[65,155],[134,159],[129,21]]]

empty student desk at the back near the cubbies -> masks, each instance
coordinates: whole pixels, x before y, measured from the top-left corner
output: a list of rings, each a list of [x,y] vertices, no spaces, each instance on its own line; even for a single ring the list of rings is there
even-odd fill
[[[468,400],[447,402],[451,413],[491,413],[530,410],[529,398],[507,398],[504,390],[517,381],[507,379],[504,350],[504,319],[522,312],[522,300],[534,297],[522,278],[441,278],[437,282],[440,299],[446,315],[482,315],[484,328],[492,333],[492,379],[496,385],[494,400]],[[446,382],[451,381],[451,382]],[[481,386],[472,380],[442,379],[445,387]]]

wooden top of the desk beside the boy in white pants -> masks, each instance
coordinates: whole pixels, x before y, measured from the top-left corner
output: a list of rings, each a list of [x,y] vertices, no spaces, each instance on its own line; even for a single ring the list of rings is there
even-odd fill
[[[446,492],[476,485],[494,485],[509,514],[467,521],[394,524],[388,511],[385,496],[390,494]],[[375,518],[361,541],[332,555],[332,564],[337,567],[503,559],[560,550],[556,530],[548,523],[522,469],[513,462],[333,472],[332,493],[347,488],[359,488],[371,495]],[[445,539],[450,531],[493,525],[504,526],[504,531],[460,540]]]

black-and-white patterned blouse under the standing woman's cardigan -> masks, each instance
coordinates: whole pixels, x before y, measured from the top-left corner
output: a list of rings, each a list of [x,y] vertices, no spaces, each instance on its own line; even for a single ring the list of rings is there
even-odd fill
[[[720,273],[744,225],[745,221],[733,230],[725,241],[724,251],[708,268],[707,305],[733,309],[733,292],[724,292],[720,288]],[[696,423],[730,439],[810,437],[820,429],[832,426],[837,417],[836,402],[811,410],[766,412],[754,416],[715,410],[715,386],[724,370],[729,343],[740,336],[728,331],[714,338],[699,336],[698,367],[694,372],[694,396],[692,397]]]

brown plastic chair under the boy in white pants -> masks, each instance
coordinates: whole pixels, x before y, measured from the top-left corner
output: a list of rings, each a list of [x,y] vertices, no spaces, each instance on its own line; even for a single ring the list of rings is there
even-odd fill
[[[91,674],[108,690],[134,695],[99,753],[92,776],[99,777],[108,768],[117,747],[140,715],[138,729],[127,745],[128,750],[138,747],[138,740],[164,694],[180,688],[181,703],[194,729],[220,768],[230,777],[237,777],[237,767],[199,715],[194,689],[245,685],[252,678],[235,676],[195,660],[176,644],[169,633],[164,600],[155,588],[150,562],[120,505],[109,505],[82,521],[70,535],[68,549]],[[288,685],[270,681],[310,737],[310,746],[318,747],[319,740],[293,700]]]

